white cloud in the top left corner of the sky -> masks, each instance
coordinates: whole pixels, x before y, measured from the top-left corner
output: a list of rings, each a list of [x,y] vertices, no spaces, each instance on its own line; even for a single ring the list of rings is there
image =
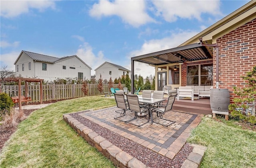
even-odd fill
[[[43,12],[46,8],[55,9],[55,3],[47,0],[4,0],[1,1],[1,16],[5,18],[14,18],[20,14],[30,12],[31,8]]]

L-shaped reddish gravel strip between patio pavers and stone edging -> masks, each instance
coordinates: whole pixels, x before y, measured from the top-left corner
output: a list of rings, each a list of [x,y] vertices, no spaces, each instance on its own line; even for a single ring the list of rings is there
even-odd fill
[[[84,111],[85,112],[85,111]],[[80,112],[80,113],[84,113]],[[123,151],[127,152],[134,158],[137,158],[142,163],[146,164],[146,166],[151,168],[180,168],[183,162],[186,160],[190,152],[192,152],[193,147],[188,145],[187,143],[182,147],[180,152],[176,154],[173,160],[162,156],[149,148],[146,148],[130,139],[122,137],[121,135],[114,133],[84,117],[78,115],[79,113],[70,114],[72,117],[80,121],[80,123],[84,124],[86,127],[92,129],[100,136],[104,137],[112,144],[116,145]]]

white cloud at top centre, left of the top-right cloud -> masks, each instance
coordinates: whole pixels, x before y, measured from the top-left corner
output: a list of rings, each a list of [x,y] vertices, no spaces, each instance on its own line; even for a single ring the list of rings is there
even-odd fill
[[[100,0],[90,10],[90,16],[96,18],[113,15],[119,16],[125,23],[134,27],[148,22],[156,22],[146,13],[146,4],[142,0],[115,0],[113,2]]]

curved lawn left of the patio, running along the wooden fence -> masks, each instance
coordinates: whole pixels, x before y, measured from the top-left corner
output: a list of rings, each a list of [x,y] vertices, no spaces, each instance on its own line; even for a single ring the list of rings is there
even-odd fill
[[[112,162],[78,136],[62,115],[114,105],[114,99],[90,96],[56,102],[34,111],[18,125],[2,149],[0,167],[113,168]]]

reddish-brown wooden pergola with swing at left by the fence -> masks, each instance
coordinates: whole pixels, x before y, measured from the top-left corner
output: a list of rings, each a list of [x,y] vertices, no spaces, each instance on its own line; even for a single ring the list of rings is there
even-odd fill
[[[25,82],[25,93],[28,91],[28,82],[40,82],[40,104],[42,104],[43,99],[43,89],[42,89],[42,82],[44,79],[36,79],[36,78],[4,78],[5,82],[19,82],[19,89],[18,89],[18,103],[19,109],[21,110],[21,82]],[[27,95],[25,95],[26,97]],[[26,102],[27,104],[27,102]]]

